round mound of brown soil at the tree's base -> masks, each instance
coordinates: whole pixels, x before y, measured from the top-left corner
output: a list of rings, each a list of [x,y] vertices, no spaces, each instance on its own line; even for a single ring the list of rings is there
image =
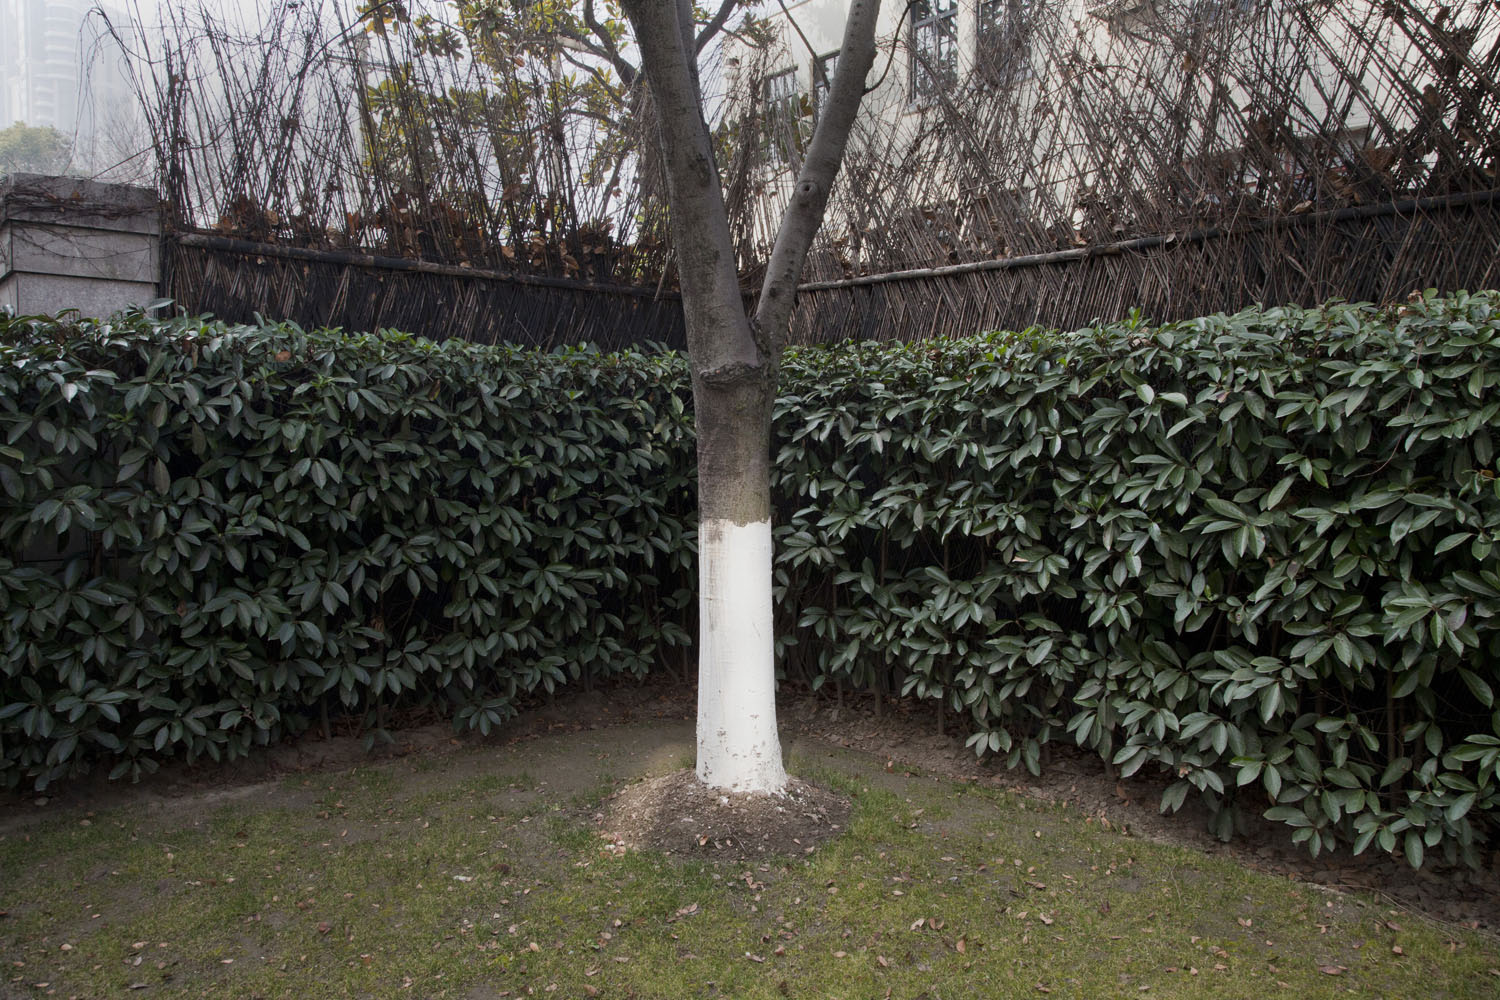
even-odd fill
[[[789,778],[783,795],[724,792],[674,771],[626,786],[596,817],[610,849],[754,861],[810,855],[849,826],[849,799]]]

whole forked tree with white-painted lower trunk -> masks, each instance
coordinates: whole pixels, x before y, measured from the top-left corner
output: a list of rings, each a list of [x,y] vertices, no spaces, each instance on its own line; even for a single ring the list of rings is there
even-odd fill
[[[704,34],[692,1],[622,6],[657,106],[698,424],[698,777],[714,787],[780,792],[786,772],[771,630],[771,406],[796,280],[874,61],[879,0],[849,4],[838,70],[750,315],[704,117]],[[722,25],[734,6],[728,0],[710,27]]]

